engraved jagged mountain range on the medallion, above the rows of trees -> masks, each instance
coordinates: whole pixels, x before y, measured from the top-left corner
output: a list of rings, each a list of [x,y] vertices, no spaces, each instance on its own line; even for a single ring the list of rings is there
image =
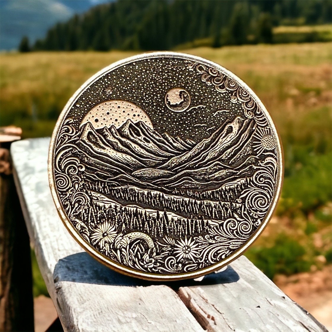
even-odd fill
[[[95,180],[141,188],[209,190],[250,176],[252,119],[236,117],[195,143],[159,134],[141,121],[95,129],[89,122],[77,135],[77,154]]]

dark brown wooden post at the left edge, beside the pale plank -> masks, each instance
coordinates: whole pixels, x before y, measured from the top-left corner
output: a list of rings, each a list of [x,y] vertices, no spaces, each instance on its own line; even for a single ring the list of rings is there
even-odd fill
[[[34,331],[30,242],[9,148],[21,128],[0,128],[0,331]]]

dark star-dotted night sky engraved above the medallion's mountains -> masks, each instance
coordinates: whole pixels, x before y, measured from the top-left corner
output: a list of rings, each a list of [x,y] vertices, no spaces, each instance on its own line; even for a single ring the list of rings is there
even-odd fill
[[[175,113],[166,107],[165,95],[174,87],[185,89],[190,94],[189,111]],[[136,59],[104,73],[90,84],[76,99],[66,118],[72,117],[73,124],[78,128],[96,105],[123,100],[144,110],[160,134],[167,132],[199,142],[225,121],[232,121],[236,116],[244,117],[240,102],[234,103],[231,96],[229,92],[221,93],[214,86],[202,82],[200,74],[189,70],[181,56]],[[198,105],[205,107],[192,109]],[[218,110],[227,112],[214,115]],[[208,130],[212,126],[215,128]]]

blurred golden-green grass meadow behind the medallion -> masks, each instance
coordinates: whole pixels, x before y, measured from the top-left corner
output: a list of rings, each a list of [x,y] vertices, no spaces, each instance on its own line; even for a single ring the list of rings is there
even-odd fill
[[[285,181],[277,212],[247,256],[270,278],[331,261],[330,43],[195,48],[244,80],[271,113],[282,137]],[[91,75],[132,52],[0,55],[1,125],[24,137],[49,136],[71,95]]]

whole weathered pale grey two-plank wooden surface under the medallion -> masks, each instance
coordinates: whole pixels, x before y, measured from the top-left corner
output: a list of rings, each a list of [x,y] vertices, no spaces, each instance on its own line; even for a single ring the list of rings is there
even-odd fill
[[[199,282],[166,285],[120,275],[76,244],[47,182],[49,138],[13,143],[30,238],[66,331],[326,331],[245,257]],[[196,321],[196,319],[197,321]]]

